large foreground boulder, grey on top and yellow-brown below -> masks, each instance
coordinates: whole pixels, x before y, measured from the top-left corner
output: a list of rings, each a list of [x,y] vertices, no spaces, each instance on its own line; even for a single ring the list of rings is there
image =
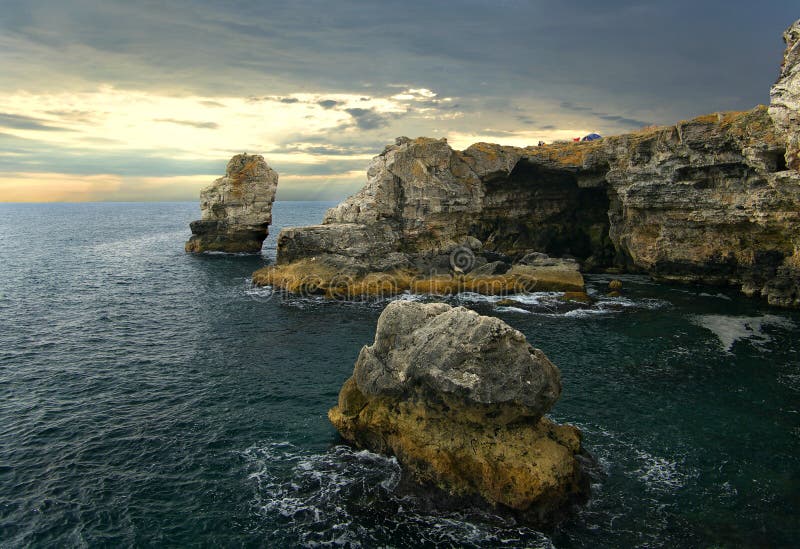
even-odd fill
[[[580,431],[543,417],[560,394],[558,368],[503,321],[395,301],[328,417],[423,485],[549,522],[588,495]]]

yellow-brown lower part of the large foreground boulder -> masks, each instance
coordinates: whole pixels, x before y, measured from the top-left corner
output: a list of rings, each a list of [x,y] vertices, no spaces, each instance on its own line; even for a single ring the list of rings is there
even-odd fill
[[[328,418],[356,445],[396,455],[421,484],[455,496],[477,493],[516,511],[536,507],[540,520],[586,490],[575,427],[547,418],[511,425],[450,419],[464,411],[424,398],[369,399],[350,378]]]

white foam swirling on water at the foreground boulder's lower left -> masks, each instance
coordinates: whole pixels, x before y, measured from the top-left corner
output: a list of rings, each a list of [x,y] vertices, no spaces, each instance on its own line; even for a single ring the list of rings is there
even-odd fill
[[[276,534],[284,544],[288,537],[302,547],[366,547],[392,538],[399,546],[553,547],[543,534],[494,515],[476,520],[429,512],[413,497],[394,495],[400,481],[394,458],[346,446],[310,453],[285,442],[241,455],[255,490],[254,509],[266,524],[280,524]]]

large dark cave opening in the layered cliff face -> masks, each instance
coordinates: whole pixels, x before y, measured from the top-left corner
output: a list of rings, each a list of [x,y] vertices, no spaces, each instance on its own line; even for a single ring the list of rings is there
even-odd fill
[[[528,251],[574,257],[587,269],[613,264],[602,178],[579,185],[574,171],[522,160],[485,188],[484,213],[473,233],[487,249],[511,257]]]

